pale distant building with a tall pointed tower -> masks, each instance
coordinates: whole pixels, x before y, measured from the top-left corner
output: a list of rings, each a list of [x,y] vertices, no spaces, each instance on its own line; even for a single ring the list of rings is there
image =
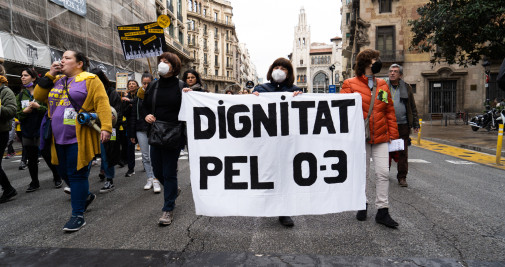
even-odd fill
[[[295,84],[309,93],[328,93],[329,85],[340,88],[342,38],[331,39],[330,44],[311,43],[310,26],[305,9],[300,10],[295,27],[293,52]]]

